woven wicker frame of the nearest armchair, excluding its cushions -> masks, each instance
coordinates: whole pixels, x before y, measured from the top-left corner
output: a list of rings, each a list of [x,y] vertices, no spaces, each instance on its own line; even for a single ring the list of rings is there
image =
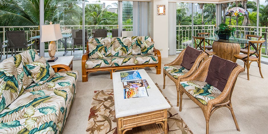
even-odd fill
[[[212,56],[213,57],[213,56]],[[208,57],[206,58],[201,64],[200,67],[198,67],[198,69],[196,70],[196,72],[194,72],[191,76],[189,76],[188,78],[182,78],[181,79],[181,84],[185,81],[201,81],[204,82],[207,78],[208,75],[208,68],[210,65],[210,61],[212,59],[212,57]],[[235,82],[237,79],[238,74],[240,74],[241,72],[243,72],[245,70],[245,68],[243,68],[240,65],[237,65],[231,72],[227,83],[223,89],[223,91],[219,94],[218,97],[215,97],[214,99],[208,100],[207,104],[203,104],[201,103],[201,101],[199,101],[199,99],[197,99],[196,97],[194,97],[192,94],[190,94],[189,92],[187,92],[184,87],[182,85],[180,85],[180,109],[179,111],[181,111],[182,109],[182,94],[185,93],[192,101],[194,101],[194,103],[196,103],[203,111],[205,119],[206,119],[206,133],[209,133],[209,119],[210,119],[210,115],[212,115],[212,113],[220,108],[220,107],[227,107],[231,113],[232,113],[232,117],[234,119],[235,122],[235,126],[237,131],[240,131],[239,126],[237,124],[237,121],[235,119],[235,115],[234,115],[234,111],[233,111],[233,107],[232,107],[232,103],[231,103],[231,98],[232,98],[232,92],[234,90],[234,86],[235,86]],[[192,81],[193,82],[193,81]],[[211,87],[209,87],[211,88]],[[213,88],[213,87],[212,87]],[[214,107],[214,108],[213,108]]]

